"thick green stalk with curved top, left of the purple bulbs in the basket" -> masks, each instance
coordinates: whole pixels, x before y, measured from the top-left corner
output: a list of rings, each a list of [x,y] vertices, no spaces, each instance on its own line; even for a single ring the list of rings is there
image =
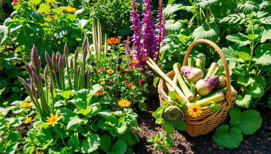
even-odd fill
[[[180,63],[175,63],[173,65],[173,70],[175,72],[175,74],[177,75],[177,78],[178,78],[178,81],[179,81],[179,84],[182,88],[182,91],[183,93],[185,94],[186,98],[191,101],[194,99],[194,95],[193,93],[190,91],[190,89],[187,87],[187,85],[185,84],[185,81],[183,81],[183,78],[180,74],[180,71],[179,71],[179,68],[178,67],[181,67]]]

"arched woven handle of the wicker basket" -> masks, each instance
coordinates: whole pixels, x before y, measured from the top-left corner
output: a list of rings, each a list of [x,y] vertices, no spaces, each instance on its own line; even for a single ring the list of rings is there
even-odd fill
[[[185,58],[183,60],[183,66],[186,66],[189,53],[192,50],[193,46],[195,46],[198,43],[207,43],[208,45],[211,45],[215,49],[215,51],[219,54],[219,56],[221,57],[222,62],[223,62],[224,67],[225,67],[225,76],[226,76],[226,87],[227,87],[227,90],[226,90],[225,98],[226,98],[227,102],[230,103],[231,102],[231,96],[230,96],[230,94],[231,94],[231,80],[230,80],[229,66],[228,66],[227,60],[226,60],[223,52],[221,51],[221,49],[214,42],[212,42],[210,40],[206,40],[206,39],[199,39],[199,40],[194,41],[188,47],[188,49],[186,51]]]

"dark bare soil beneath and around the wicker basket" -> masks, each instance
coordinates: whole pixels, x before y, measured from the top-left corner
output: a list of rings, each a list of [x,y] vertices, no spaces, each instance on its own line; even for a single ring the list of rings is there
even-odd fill
[[[153,147],[145,147],[145,145],[151,145],[146,139],[151,136],[156,136],[157,131],[166,135],[166,131],[163,131],[162,125],[155,124],[155,119],[152,117],[152,112],[159,107],[158,96],[153,96],[153,100],[146,101],[147,111],[136,111],[138,116],[138,125],[143,131],[136,132],[140,139],[140,143],[136,143],[133,146],[133,151],[136,154],[157,153],[162,154],[162,148],[154,151]],[[243,135],[243,141],[238,148],[228,149],[221,148],[212,139],[214,131],[209,132],[206,135],[197,137],[191,137],[185,131],[178,131],[175,129],[174,134],[170,135],[173,139],[175,147],[170,147],[172,153],[186,153],[186,154],[235,154],[235,153],[259,153],[259,154],[271,154],[271,110],[269,108],[256,108],[260,112],[262,118],[262,127],[258,129],[253,135]],[[229,122],[225,122],[229,124]]]

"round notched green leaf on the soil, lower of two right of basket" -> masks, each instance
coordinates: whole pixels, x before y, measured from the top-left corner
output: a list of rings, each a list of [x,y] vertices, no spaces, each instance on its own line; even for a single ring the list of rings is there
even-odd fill
[[[230,132],[229,132],[230,130]],[[237,128],[231,128],[229,125],[220,125],[215,129],[212,139],[223,148],[237,148],[243,141],[243,135]]]

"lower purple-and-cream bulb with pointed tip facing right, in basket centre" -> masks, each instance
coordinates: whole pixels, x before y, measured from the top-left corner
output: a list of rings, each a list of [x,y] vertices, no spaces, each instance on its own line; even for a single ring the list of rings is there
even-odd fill
[[[218,76],[209,76],[204,79],[200,79],[196,83],[196,90],[199,94],[206,96],[215,88],[217,84]]]

